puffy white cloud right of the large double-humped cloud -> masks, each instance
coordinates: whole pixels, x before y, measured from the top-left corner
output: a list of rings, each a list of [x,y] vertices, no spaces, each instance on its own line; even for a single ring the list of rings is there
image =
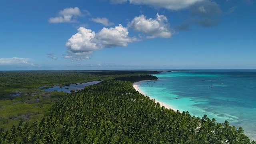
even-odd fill
[[[150,35],[148,38],[170,38],[172,36],[168,19],[166,16],[159,15],[158,13],[156,14],[155,19],[147,19],[143,14],[136,16],[129,26],[135,31]]]

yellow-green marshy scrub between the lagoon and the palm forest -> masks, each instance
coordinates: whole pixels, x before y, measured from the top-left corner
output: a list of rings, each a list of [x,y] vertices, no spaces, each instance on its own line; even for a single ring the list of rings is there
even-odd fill
[[[22,94],[12,100],[0,100],[0,128],[10,129],[14,124],[17,125],[19,120],[30,124],[35,120],[41,120],[51,105],[66,94],[51,92],[50,97],[45,96],[46,94]]]

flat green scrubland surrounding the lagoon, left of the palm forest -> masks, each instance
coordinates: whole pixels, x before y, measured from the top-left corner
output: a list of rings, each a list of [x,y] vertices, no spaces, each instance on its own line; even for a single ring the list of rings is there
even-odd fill
[[[0,128],[10,129],[19,120],[32,124],[49,112],[67,93],[46,92],[40,86],[65,86],[94,80],[112,80],[129,75],[157,74],[153,71],[0,71]],[[20,94],[20,96],[10,96]]]

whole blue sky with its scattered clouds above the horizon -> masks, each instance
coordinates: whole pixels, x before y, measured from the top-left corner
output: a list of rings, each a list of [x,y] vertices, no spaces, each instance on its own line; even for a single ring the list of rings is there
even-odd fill
[[[5,0],[0,70],[255,69],[254,0]]]

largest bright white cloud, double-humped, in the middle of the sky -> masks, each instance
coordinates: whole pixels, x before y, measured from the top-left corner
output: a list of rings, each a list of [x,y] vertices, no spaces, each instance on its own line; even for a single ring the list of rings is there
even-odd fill
[[[89,59],[89,55],[95,50],[108,47],[127,46],[129,42],[137,41],[136,38],[131,38],[128,34],[128,29],[121,24],[114,28],[102,28],[98,33],[80,27],[78,28],[78,32],[66,42],[69,54],[64,56],[64,58],[86,60]]]

